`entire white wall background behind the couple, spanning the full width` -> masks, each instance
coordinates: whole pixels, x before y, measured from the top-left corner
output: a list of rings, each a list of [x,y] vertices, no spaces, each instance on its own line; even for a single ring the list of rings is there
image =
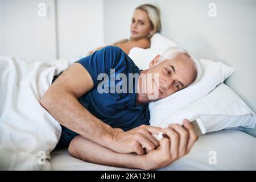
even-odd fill
[[[48,18],[38,17],[39,2]],[[72,63],[129,38],[133,10],[145,2],[160,7],[164,36],[199,58],[232,65],[226,84],[256,111],[255,0],[0,0],[0,55]],[[209,3],[216,3],[216,17],[208,15]]]

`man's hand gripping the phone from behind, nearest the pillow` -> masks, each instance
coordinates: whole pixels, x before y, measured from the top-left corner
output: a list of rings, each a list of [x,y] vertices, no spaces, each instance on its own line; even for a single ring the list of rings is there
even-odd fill
[[[162,138],[160,146],[145,155],[144,169],[165,167],[189,153],[198,137],[187,119],[184,119],[183,123],[184,127],[176,124],[169,125],[167,129],[162,129],[162,132],[168,138]]]

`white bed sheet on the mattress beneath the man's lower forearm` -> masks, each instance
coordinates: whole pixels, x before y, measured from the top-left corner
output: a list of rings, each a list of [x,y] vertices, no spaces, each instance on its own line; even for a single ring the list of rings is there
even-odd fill
[[[217,164],[209,164],[209,152]],[[131,170],[102,166],[73,158],[67,150],[52,152],[53,170]],[[199,138],[189,155],[160,170],[256,170],[256,138],[240,130],[221,130]]]

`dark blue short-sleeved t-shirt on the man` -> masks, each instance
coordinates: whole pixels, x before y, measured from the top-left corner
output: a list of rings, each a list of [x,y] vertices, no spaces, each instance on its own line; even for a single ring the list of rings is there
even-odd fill
[[[129,80],[129,73],[139,75],[141,70],[121,48],[108,46],[76,63],[80,63],[89,72],[93,80],[93,89],[79,98],[80,104],[90,113],[106,124],[119,127],[124,131],[141,125],[149,125],[148,104],[136,105],[137,93],[135,93],[135,88],[137,88],[137,85],[135,84],[137,82],[135,82],[135,79],[134,81]],[[108,77],[98,80],[97,77],[100,73],[105,73],[105,76]],[[116,79],[118,73],[126,75],[127,89],[124,89],[127,90],[126,93],[117,93],[116,90],[114,92],[111,90],[113,88],[124,88],[125,82],[123,82],[123,79]],[[110,79],[113,80],[113,78],[114,82],[111,82]],[[122,83],[123,86],[120,86]],[[101,85],[100,88],[105,89],[107,93],[98,92],[99,84]],[[132,92],[129,92],[129,89]]]

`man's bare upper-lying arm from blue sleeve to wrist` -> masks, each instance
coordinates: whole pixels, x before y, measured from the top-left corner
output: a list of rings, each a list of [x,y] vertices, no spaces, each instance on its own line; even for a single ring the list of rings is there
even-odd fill
[[[93,81],[89,73],[82,65],[75,63],[53,82],[52,86],[44,93],[40,104],[61,125],[85,138],[104,144],[112,140],[115,131],[100,119],[93,117],[77,101],[77,98],[92,88]]]

